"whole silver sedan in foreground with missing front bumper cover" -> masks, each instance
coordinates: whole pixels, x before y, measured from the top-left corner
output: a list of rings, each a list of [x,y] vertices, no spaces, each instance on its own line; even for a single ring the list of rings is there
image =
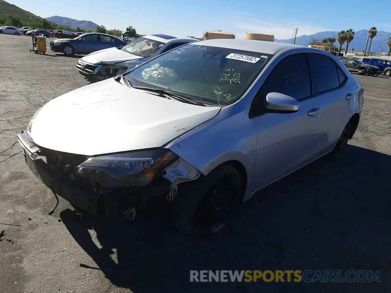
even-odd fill
[[[77,209],[128,214],[161,196],[181,231],[216,231],[259,189],[341,154],[363,102],[323,50],[211,39],[50,100],[19,141],[34,174]]]

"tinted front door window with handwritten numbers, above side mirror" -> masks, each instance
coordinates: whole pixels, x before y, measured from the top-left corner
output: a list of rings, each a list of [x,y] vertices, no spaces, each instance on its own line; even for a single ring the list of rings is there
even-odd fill
[[[262,96],[268,93],[282,93],[296,100],[311,95],[310,75],[305,55],[283,59],[265,80]]]

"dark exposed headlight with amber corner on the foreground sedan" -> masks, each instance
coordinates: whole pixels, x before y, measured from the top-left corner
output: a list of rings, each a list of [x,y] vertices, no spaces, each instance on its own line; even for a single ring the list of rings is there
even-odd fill
[[[91,157],[77,166],[77,173],[104,188],[145,186],[178,156],[165,148]]]

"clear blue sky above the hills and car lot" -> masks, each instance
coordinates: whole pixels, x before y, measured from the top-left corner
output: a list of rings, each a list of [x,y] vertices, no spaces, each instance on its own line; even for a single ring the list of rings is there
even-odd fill
[[[131,25],[140,34],[165,33],[201,37],[204,31],[223,30],[241,38],[246,32],[274,34],[277,39],[299,34],[377,27],[391,32],[387,15],[391,2],[374,0],[9,0],[41,17],[65,16],[90,20],[107,29]],[[376,13],[367,13],[371,8]],[[351,11],[351,13],[350,13]],[[384,14],[382,14],[384,11]],[[383,18],[381,16],[384,16]]]

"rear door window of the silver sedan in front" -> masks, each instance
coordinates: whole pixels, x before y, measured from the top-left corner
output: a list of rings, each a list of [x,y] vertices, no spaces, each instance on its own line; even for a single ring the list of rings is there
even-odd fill
[[[315,86],[315,94],[339,87],[337,64],[332,59],[310,54],[308,55],[308,61],[312,82]]]

